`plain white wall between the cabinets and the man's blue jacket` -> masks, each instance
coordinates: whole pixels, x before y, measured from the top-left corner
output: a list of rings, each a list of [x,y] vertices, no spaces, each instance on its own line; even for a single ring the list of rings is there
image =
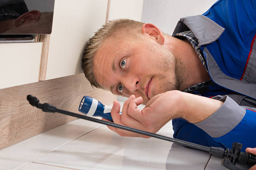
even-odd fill
[[[179,18],[202,14],[217,0],[144,0],[141,21],[172,35]]]

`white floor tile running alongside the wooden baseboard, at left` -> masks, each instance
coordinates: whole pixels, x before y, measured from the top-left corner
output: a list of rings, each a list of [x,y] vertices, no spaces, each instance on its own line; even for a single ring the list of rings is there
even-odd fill
[[[0,159],[33,161],[100,126],[95,122],[77,119],[0,150]]]

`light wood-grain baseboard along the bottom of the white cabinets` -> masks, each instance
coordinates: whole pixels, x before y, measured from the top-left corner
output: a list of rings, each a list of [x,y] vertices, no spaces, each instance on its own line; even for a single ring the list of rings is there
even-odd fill
[[[92,96],[106,105],[117,99],[111,92],[93,89],[83,73],[1,89],[0,149],[76,119],[32,107],[26,100],[29,94],[36,96],[41,103],[48,102],[77,113],[84,95]]]

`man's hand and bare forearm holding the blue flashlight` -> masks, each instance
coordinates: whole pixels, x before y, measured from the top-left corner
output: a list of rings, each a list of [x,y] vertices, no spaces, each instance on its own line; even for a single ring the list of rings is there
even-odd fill
[[[142,97],[136,98],[134,95],[131,95],[123,105],[122,115],[119,114],[120,104],[114,101],[111,110],[113,122],[156,133],[167,122],[177,117],[183,117],[192,123],[205,120],[223,104],[223,102],[218,100],[178,90],[164,92],[152,97],[146,104],[146,107],[140,110],[137,106],[142,101]],[[118,128],[108,128],[121,136],[150,138]]]

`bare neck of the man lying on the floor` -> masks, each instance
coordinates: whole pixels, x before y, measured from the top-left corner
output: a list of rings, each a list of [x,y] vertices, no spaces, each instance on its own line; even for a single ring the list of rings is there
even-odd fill
[[[205,70],[197,52],[187,39],[179,40],[168,36],[166,38],[166,45],[185,68],[179,90],[184,90],[192,85],[210,80],[210,76]]]

